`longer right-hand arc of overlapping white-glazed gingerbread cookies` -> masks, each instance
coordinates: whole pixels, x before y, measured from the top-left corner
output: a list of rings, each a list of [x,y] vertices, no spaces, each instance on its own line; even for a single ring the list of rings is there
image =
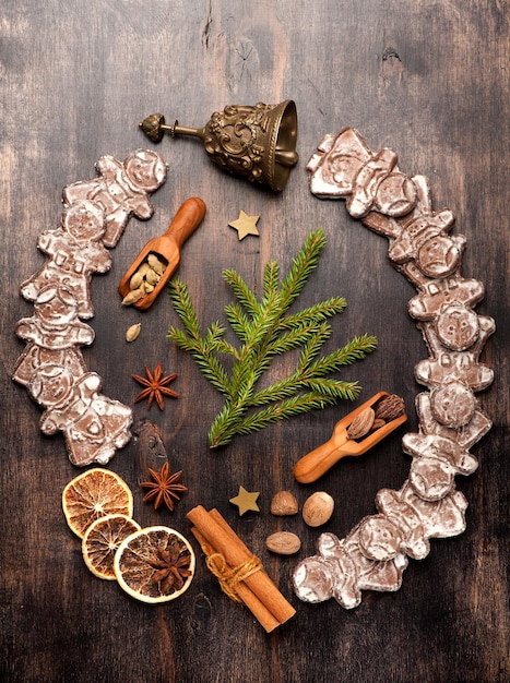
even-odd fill
[[[407,556],[423,560],[430,538],[465,529],[467,502],[455,490],[455,476],[476,470],[469,448],[491,426],[475,392],[494,378],[479,355],[495,324],[473,309],[483,298],[483,284],[462,277],[465,238],[449,233],[454,223],[449,209],[434,211],[426,178],[401,178],[396,155],[388,149],[372,155],[353,129],[327,135],[307,168],[313,194],[346,197],[352,216],[388,237],[391,263],[418,291],[408,312],[420,321],[429,350],[415,368],[416,380],[429,390],[416,398],[419,430],[402,439],[412,457],[408,479],[399,491],[379,491],[378,514],[344,539],[319,537],[318,553],[294,572],[301,600],[334,597],[349,609],[359,604],[364,589],[396,590]]]

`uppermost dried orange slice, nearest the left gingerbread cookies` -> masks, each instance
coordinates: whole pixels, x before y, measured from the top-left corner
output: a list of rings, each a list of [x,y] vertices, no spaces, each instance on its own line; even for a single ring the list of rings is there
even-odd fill
[[[70,528],[83,538],[93,522],[106,515],[133,516],[133,495],[126,481],[109,469],[95,467],[68,483],[62,507]]]

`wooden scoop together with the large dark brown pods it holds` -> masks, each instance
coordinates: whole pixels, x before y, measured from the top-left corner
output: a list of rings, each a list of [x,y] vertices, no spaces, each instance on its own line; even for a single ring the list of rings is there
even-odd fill
[[[348,455],[363,455],[407,420],[403,399],[379,392],[336,422],[333,435],[294,468],[300,483],[311,483]]]

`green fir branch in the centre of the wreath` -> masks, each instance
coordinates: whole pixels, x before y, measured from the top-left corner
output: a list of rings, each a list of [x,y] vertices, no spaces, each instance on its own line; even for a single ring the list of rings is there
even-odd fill
[[[186,285],[178,277],[170,280],[170,298],[183,329],[171,326],[168,338],[192,355],[199,370],[225,398],[209,431],[212,448],[229,443],[236,434],[249,434],[359,395],[357,382],[330,375],[373,351],[376,337],[354,337],[344,347],[320,356],[332,332],[327,321],[345,309],[345,299],[331,298],[287,314],[317,267],[324,245],[322,230],[310,232],[283,281],[277,263],[269,262],[261,300],[235,271],[224,271],[223,277],[237,299],[224,312],[239,347],[224,338],[226,329],[220,322],[202,336]],[[294,372],[259,388],[258,382],[274,358],[295,349],[301,350]],[[225,356],[230,358],[229,370],[222,362]]]

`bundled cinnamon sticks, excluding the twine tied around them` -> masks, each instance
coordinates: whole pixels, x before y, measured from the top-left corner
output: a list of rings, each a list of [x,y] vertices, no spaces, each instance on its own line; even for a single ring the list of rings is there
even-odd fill
[[[221,555],[227,570],[236,570],[253,560],[251,551],[217,510],[207,512],[202,505],[198,505],[187,517],[193,523],[191,531],[205,554]],[[236,584],[235,591],[268,633],[296,613],[261,565],[256,571],[247,573],[247,576]]]

